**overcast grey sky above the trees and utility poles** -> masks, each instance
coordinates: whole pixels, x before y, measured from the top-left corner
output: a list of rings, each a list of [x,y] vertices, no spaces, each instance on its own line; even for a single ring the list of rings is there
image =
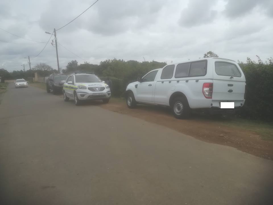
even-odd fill
[[[47,42],[95,0],[1,0],[0,28],[17,36]],[[106,59],[179,62],[198,59],[209,50],[245,61],[273,57],[272,0],[100,0],[57,31],[59,63],[98,64]],[[51,38],[53,39],[53,38]],[[3,42],[6,41],[6,42]],[[7,43],[9,42],[9,43]],[[0,68],[31,65],[57,68],[55,48],[0,30]]]

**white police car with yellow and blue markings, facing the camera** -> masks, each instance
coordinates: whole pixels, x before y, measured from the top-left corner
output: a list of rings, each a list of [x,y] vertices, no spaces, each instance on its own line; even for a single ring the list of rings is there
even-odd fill
[[[108,103],[111,97],[109,86],[91,73],[72,73],[63,85],[63,99],[74,99],[75,105],[84,100],[102,100]]]

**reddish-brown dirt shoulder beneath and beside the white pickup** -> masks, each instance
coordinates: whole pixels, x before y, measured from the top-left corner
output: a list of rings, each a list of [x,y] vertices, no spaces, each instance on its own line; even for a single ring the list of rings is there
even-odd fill
[[[199,140],[228,145],[258,157],[273,160],[273,126],[258,125],[241,119],[213,119],[211,116],[194,114],[190,119],[177,120],[169,108],[139,104],[129,109],[125,101],[111,99],[100,107],[120,114],[127,114],[148,122],[177,130]]]

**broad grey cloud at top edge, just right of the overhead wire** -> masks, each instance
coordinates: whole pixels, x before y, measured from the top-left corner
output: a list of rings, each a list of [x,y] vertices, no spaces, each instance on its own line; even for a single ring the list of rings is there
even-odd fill
[[[112,35],[127,30],[144,28],[155,22],[155,15],[168,1],[108,0],[98,4],[96,16],[90,21],[88,30]]]

